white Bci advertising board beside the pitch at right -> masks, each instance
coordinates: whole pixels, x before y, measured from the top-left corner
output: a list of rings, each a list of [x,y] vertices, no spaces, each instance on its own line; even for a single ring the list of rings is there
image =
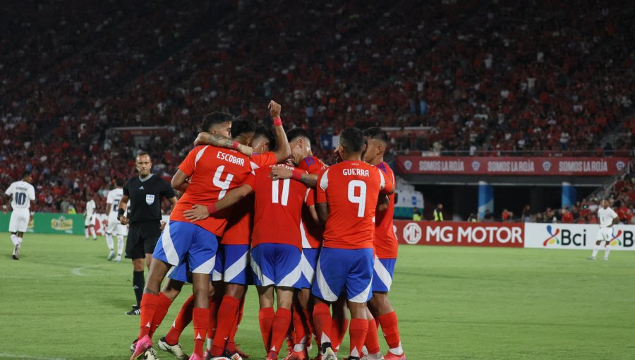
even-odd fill
[[[591,250],[598,239],[597,224],[525,224],[526,248]],[[614,250],[635,251],[635,225],[615,225],[610,245]]]

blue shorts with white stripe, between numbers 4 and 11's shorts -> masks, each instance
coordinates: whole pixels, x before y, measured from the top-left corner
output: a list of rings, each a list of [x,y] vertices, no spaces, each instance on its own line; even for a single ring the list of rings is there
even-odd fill
[[[212,280],[230,284],[252,285],[249,245],[221,244],[216,254]]]

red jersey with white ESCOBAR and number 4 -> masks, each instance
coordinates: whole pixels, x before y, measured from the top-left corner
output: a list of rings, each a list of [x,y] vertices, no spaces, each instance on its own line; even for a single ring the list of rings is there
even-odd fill
[[[174,206],[170,220],[189,222],[183,211],[192,205],[210,205],[222,199],[233,188],[240,186],[251,174],[249,158],[237,152],[210,145],[193,148],[179,165],[181,172],[190,178],[186,192]],[[220,211],[196,224],[217,236],[222,236],[229,211]]]

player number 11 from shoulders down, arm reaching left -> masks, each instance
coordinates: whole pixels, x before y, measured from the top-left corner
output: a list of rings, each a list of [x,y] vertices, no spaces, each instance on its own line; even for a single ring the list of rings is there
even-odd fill
[[[308,193],[306,186],[298,181],[270,179],[270,172],[274,167],[289,166],[277,164],[256,169],[253,184],[237,188],[215,205],[217,210],[222,210],[234,205],[252,191],[255,193],[251,268],[258,289],[258,319],[262,341],[268,354],[267,360],[278,359],[279,350],[291,324],[294,286],[301,276],[301,210]],[[191,219],[198,221],[206,215],[207,208],[197,205]],[[275,312],[274,292],[278,305]],[[216,346],[217,344],[212,346],[212,351],[217,349]],[[212,359],[226,358],[217,356]]]

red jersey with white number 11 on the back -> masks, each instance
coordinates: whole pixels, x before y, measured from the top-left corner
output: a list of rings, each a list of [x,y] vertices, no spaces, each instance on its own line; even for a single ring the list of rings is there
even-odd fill
[[[255,171],[255,215],[251,246],[260,243],[289,244],[302,248],[300,216],[308,189],[300,181],[274,180],[270,165]]]

